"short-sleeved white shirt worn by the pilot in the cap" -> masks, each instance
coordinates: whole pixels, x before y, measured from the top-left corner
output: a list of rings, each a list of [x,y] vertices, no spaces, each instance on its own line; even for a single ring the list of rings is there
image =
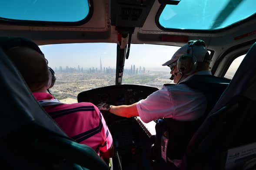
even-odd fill
[[[211,75],[210,71],[200,71],[193,75]],[[182,82],[187,81],[188,76]],[[137,110],[145,123],[158,118],[173,118],[178,121],[193,121],[206,110],[206,97],[185,84],[163,86],[146,99],[140,100]]]

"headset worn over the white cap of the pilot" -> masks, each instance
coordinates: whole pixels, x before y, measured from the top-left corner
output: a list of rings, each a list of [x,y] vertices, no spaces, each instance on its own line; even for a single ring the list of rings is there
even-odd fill
[[[193,46],[204,46],[205,47],[205,42],[203,40],[197,39],[197,40],[191,40],[188,42],[188,49],[186,54],[181,56],[178,61],[177,61],[177,72],[182,73],[183,75],[190,75],[193,72],[196,71],[197,67],[197,59],[193,55]],[[190,54],[190,51],[192,50],[192,53]],[[206,55],[204,56],[203,62],[210,62],[210,56],[209,52],[206,52]]]

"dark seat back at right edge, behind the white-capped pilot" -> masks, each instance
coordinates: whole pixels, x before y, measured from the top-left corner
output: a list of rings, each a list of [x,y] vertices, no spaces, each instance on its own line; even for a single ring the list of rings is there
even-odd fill
[[[255,169],[256,43],[190,141],[183,170]]]

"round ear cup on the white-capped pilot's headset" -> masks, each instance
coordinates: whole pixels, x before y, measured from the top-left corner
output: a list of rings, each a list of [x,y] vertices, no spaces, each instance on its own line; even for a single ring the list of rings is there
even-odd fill
[[[177,61],[177,70],[180,70],[183,74],[188,75],[196,70],[197,60],[195,56],[185,54],[181,56]]]

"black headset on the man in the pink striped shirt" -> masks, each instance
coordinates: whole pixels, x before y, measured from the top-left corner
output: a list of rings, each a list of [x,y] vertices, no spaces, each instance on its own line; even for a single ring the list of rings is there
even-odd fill
[[[29,39],[11,38],[11,37],[1,37],[0,38],[0,47],[2,47],[3,50],[8,50],[8,49],[12,49],[15,47],[22,47],[22,46],[34,49],[37,52],[39,52],[41,55],[43,55],[43,57],[44,57],[43,52],[40,50],[40,48],[37,46],[37,44],[34,43],[33,41],[30,41]],[[48,65],[48,61],[46,58],[45,58],[45,60]],[[52,88],[56,81],[56,75],[55,75],[55,72],[53,71],[53,69],[51,69],[48,66],[48,70],[49,70],[49,81],[47,83],[47,89]],[[49,92],[49,90],[48,90],[48,92]]]

